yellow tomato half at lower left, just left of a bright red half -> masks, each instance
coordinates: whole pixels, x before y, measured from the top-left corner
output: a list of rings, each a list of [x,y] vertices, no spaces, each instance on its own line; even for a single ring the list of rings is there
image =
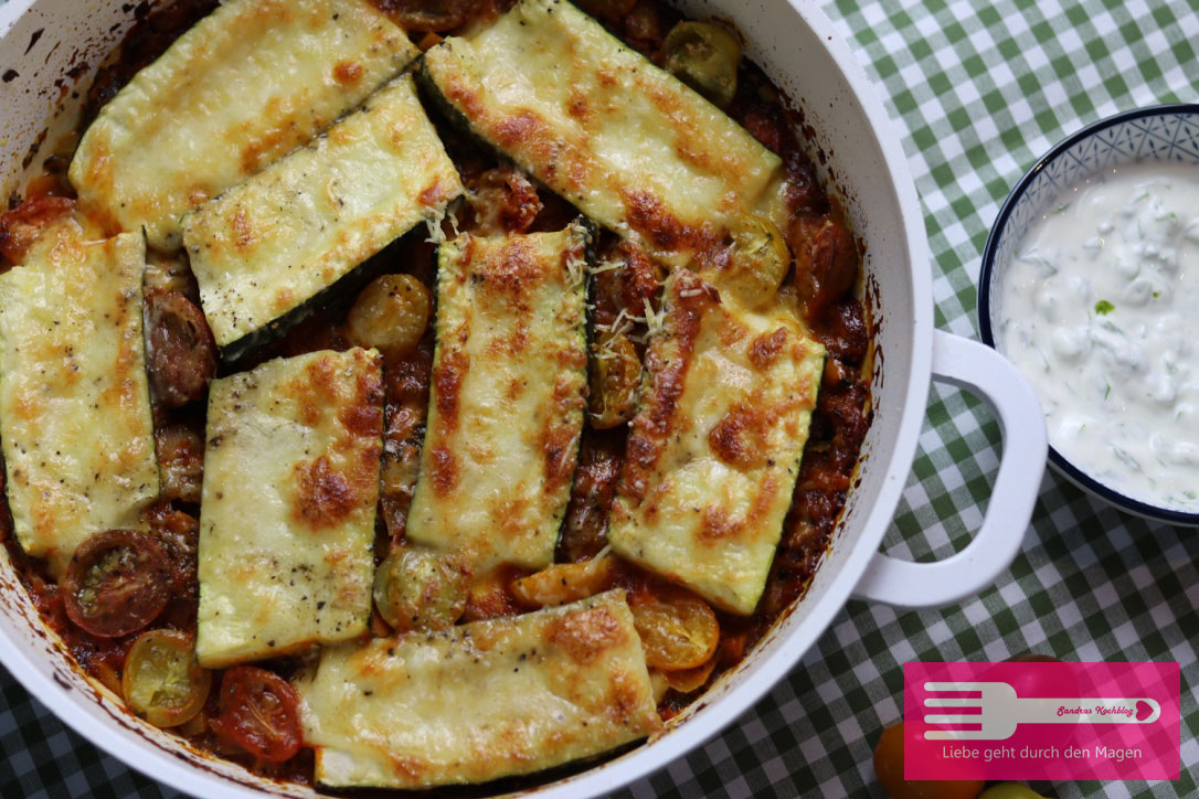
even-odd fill
[[[189,721],[204,707],[211,686],[212,672],[195,662],[195,644],[186,632],[143,632],[125,659],[125,701],[156,727]]]

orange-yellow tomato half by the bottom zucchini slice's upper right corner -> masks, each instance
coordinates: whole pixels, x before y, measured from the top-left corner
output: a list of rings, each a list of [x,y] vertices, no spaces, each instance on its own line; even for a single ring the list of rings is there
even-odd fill
[[[629,609],[650,666],[694,668],[716,654],[721,625],[699,597],[681,588],[655,589],[631,599]]]

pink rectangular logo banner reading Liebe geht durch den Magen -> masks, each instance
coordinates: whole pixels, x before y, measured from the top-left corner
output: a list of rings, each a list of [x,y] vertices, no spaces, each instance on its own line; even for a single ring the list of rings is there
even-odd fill
[[[904,664],[906,780],[1177,780],[1179,664]]]

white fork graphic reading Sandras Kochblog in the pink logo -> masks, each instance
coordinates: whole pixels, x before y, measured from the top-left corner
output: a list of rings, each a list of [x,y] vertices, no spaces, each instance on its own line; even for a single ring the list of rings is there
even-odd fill
[[[924,683],[924,690],[970,691],[977,697],[933,696],[924,700],[926,708],[978,708],[977,714],[927,713],[924,724],[971,725],[971,730],[929,730],[926,740],[1006,740],[1020,724],[1151,724],[1162,715],[1162,706],[1147,697],[1121,698],[1042,698],[1019,697],[1007,683]],[[1151,713],[1138,719],[1138,703],[1144,702]],[[1059,713],[1061,708],[1081,708],[1089,713]],[[1099,709],[1108,713],[1101,713]]]

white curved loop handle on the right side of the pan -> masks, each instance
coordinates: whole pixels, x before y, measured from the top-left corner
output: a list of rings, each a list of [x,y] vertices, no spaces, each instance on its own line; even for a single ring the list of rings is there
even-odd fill
[[[948,605],[995,582],[1024,540],[1048,453],[1044,414],[1032,388],[995,350],[936,331],[933,380],[987,402],[999,420],[1004,452],[982,526],[964,550],[933,563],[875,553],[855,594],[899,607]]]

